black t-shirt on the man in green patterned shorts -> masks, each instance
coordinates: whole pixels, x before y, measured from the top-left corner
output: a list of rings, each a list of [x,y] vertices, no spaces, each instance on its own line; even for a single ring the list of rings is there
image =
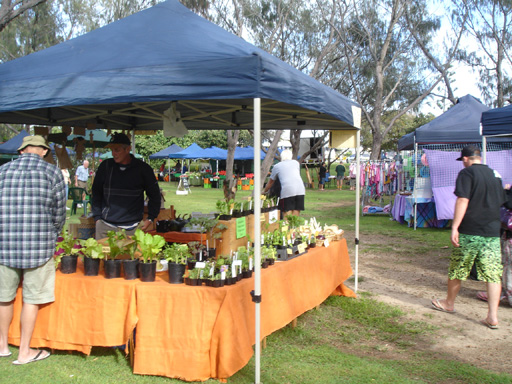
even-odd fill
[[[501,179],[484,164],[473,164],[459,172],[455,195],[469,199],[459,232],[484,237],[500,236],[500,207],[505,201]]]

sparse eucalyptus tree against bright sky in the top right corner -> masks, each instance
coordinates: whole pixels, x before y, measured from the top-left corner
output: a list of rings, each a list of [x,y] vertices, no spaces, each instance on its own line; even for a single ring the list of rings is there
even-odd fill
[[[512,1],[453,0],[457,14],[468,13],[467,33],[474,44],[460,50],[462,60],[479,75],[478,87],[486,103],[511,103]]]

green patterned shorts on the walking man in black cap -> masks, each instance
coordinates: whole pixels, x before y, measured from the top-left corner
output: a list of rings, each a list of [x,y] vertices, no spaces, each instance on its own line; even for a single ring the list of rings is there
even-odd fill
[[[501,283],[501,246],[499,237],[459,235],[460,247],[454,248],[450,259],[448,278],[466,280],[473,263],[478,279],[487,283]]]

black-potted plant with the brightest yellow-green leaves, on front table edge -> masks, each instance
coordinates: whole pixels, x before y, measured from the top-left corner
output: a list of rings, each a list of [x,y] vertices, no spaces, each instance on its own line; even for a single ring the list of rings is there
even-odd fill
[[[139,263],[141,281],[155,281],[156,257],[165,245],[165,239],[160,235],[151,235],[141,229],[135,231],[133,238],[141,253],[142,263]]]

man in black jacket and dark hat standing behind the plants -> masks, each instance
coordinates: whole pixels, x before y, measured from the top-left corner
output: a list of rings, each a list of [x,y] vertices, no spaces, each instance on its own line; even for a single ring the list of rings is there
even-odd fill
[[[141,229],[148,229],[160,213],[158,182],[151,167],[130,154],[128,136],[113,134],[107,147],[112,150],[112,159],[100,164],[92,185],[96,239],[120,229],[132,235],[144,215],[144,192],[148,197],[148,217]]]

